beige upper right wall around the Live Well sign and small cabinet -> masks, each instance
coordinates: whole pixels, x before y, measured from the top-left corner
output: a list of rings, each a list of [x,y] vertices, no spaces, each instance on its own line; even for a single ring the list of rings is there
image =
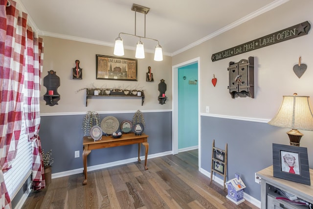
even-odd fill
[[[201,113],[205,113],[205,106],[209,106],[210,114],[271,119],[280,106],[282,96],[293,93],[310,96],[312,104],[312,28],[308,35],[302,37],[223,60],[211,61],[213,53],[244,44],[298,23],[309,21],[312,24],[312,8],[312,0],[290,0],[199,46],[173,56],[173,66],[200,57]],[[232,99],[227,89],[228,64],[231,61],[239,62],[241,59],[247,59],[249,56],[255,57],[255,98],[237,97]],[[299,56],[302,57],[302,63],[308,66],[300,79],[292,70],[293,66],[298,64]],[[213,74],[218,79],[216,87],[213,87],[211,83]]]

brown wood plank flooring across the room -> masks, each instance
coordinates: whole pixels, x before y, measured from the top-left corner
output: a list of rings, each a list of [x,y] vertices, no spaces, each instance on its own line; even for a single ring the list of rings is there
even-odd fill
[[[198,171],[198,150],[52,179],[22,209],[257,209],[226,199],[227,190]]]

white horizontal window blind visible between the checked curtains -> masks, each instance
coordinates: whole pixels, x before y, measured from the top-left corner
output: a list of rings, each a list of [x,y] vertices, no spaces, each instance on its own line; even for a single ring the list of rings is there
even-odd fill
[[[12,168],[4,173],[4,182],[11,200],[22,188],[23,184],[31,174],[31,142],[28,141],[25,130],[24,118],[22,118],[21,136],[18,142],[18,152],[12,163]]]

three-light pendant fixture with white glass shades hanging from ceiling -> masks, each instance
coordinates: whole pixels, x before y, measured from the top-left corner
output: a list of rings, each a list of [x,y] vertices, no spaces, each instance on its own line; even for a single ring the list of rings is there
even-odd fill
[[[149,12],[149,10],[150,10],[150,8],[148,8],[148,7],[141,6],[138,4],[133,4],[132,11],[135,12],[135,34],[133,35],[133,34],[129,34],[129,33],[120,32],[118,34],[118,37],[115,39],[114,53],[113,53],[114,55],[116,55],[116,56],[123,56],[124,55],[123,39],[121,38],[121,35],[123,34],[123,35],[129,35],[129,36],[134,36],[134,37],[139,38],[139,41],[137,42],[137,46],[136,46],[135,58],[137,58],[137,59],[145,58],[143,42],[141,41],[141,39],[148,39],[148,40],[152,40],[152,41],[157,42],[154,60],[155,61],[162,61],[163,60],[162,47],[160,46],[159,41],[156,39],[151,39],[151,38],[146,37],[146,14]],[[137,36],[136,35],[136,12],[140,12],[140,13],[145,14],[145,28],[144,28],[145,34],[144,34],[144,36]]]

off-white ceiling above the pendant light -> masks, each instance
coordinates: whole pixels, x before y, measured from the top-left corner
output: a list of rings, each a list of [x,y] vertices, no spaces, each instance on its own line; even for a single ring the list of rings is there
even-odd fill
[[[133,3],[146,6],[146,37],[163,54],[175,55],[288,0],[20,0],[40,35],[114,46],[120,32],[135,33]],[[136,13],[136,35],[144,36],[144,14]],[[138,38],[121,35],[134,49]],[[155,41],[142,39],[145,51]]]

